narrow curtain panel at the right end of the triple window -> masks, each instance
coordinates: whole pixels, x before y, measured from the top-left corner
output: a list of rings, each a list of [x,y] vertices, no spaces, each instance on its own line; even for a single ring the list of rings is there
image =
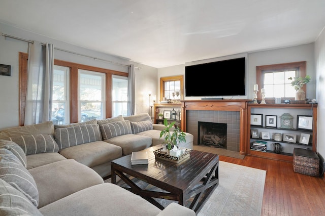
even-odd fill
[[[127,115],[134,115],[135,114],[135,107],[136,107],[136,81],[135,81],[135,66],[132,64],[128,67],[128,87],[127,87]]]

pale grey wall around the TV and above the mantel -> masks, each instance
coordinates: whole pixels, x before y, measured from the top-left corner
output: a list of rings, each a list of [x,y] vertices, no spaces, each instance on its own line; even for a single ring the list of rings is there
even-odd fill
[[[312,77],[311,82],[307,84],[308,98],[315,98],[315,84],[316,73],[314,67],[314,44],[300,45],[289,48],[275,49],[269,51],[252,52],[248,54],[236,54],[227,57],[214,58],[209,60],[196,61],[195,63],[205,63],[213,61],[221,61],[229,58],[247,57],[246,63],[246,96],[237,97],[224,97],[224,99],[253,99],[253,88],[256,83],[256,66],[280,64],[288,62],[307,61],[307,74]],[[184,63],[182,65],[176,65],[172,67],[159,68],[158,69],[158,81],[157,87],[160,90],[160,77],[172,76],[172,75],[184,75],[185,78],[185,65],[191,65],[192,63]],[[184,80],[185,81],[185,80]],[[184,83],[185,85],[185,83]],[[185,88],[185,86],[184,86]],[[202,87],[204,88],[204,87]],[[183,90],[183,92],[185,89]],[[159,91],[158,91],[159,93]],[[201,97],[185,97],[185,100],[200,100]]]

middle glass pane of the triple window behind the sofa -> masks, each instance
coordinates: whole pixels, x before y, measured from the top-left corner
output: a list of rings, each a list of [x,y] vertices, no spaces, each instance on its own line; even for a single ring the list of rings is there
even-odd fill
[[[105,73],[79,69],[79,122],[103,119]]]

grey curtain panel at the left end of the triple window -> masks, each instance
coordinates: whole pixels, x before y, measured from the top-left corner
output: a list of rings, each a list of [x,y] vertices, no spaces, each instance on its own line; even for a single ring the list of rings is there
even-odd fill
[[[35,41],[28,47],[25,125],[51,120],[54,46]]]

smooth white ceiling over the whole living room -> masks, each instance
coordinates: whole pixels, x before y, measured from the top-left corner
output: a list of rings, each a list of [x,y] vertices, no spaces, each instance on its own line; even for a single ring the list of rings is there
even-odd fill
[[[0,22],[161,68],[314,42],[325,1],[0,0]]]

